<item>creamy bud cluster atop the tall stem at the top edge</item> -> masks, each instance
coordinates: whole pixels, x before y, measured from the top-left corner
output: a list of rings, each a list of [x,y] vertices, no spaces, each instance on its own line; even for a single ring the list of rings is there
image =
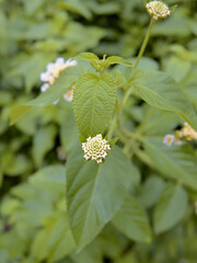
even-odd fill
[[[147,11],[154,20],[164,19],[171,14],[169,7],[162,1],[151,1],[146,4]]]

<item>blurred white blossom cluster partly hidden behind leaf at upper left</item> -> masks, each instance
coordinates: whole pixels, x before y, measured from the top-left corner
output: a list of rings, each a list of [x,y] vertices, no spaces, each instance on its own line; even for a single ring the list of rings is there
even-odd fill
[[[62,70],[73,67],[76,65],[77,65],[77,60],[71,60],[71,58],[69,58],[68,60],[65,60],[65,58],[62,57],[57,58],[55,62],[49,62],[47,65],[47,70],[40,73],[40,80],[44,82],[40,87],[40,92],[45,92],[46,90],[48,90],[50,84],[54,84],[54,82],[59,77]],[[67,101],[72,101],[72,95],[73,95],[73,87],[66,92],[63,98]],[[56,104],[57,102],[58,101],[55,101],[54,104]]]

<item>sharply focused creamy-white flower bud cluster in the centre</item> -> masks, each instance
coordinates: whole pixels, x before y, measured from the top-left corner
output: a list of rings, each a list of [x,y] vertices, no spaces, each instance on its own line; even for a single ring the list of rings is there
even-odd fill
[[[85,153],[85,160],[92,159],[97,163],[101,163],[107,156],[107,151],[109,151],[111,147],[107,144],[107,140],[103,139],[102,135],[99,134],[95,137],[89,137],[86,142],[82,144],[82,149]]]

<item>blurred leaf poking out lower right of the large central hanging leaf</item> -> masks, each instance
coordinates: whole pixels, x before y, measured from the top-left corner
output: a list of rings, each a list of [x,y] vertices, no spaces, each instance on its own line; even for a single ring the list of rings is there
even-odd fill
[[[135,241],[150,242],[152,239],[148,218],[138,202],[131,196],[125,198],[121,208],[113,219],[113,224]]]

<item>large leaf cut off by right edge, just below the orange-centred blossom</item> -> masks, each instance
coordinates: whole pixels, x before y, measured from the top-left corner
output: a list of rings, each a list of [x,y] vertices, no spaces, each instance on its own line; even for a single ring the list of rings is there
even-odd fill
[[[147,139],[144,150],[159,172],[197,190],[197,158],[189,146],[167,147],[162,141]]]

